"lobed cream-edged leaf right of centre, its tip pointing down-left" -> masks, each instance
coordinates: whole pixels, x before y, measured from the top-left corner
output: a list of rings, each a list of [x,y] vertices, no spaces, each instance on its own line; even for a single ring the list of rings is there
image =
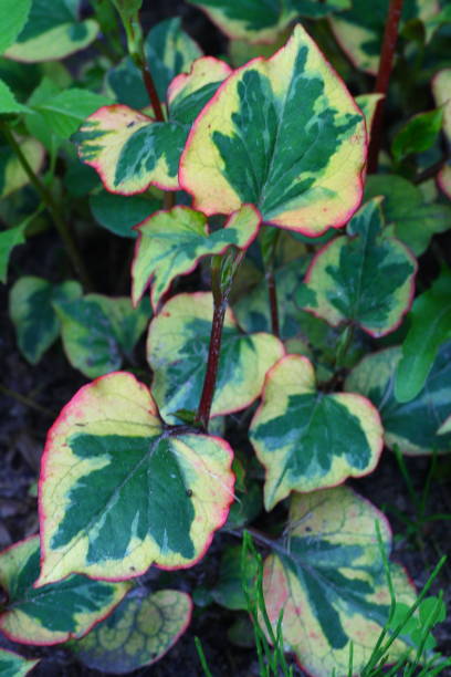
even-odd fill
[[[287,355],[268,374],[249,430],[266,469],[268,511],[292,490],[314,491],[368,475],[382,451],[384,430],[360,395],[319,393],[306,357]]]

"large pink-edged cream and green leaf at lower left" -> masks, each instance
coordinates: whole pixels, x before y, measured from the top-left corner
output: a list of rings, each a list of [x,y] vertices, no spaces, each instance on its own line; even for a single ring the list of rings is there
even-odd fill
[[[168,430],[149,390],[125,372],[84,386],[51,429],[40,485],[38,585],[76,571],[133,577],[193,565],[233,500],[232,450]]]

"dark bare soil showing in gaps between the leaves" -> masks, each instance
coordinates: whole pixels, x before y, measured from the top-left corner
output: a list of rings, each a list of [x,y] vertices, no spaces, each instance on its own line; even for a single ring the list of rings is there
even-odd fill
[[[161,19],[180,15],[185,28],[201,44],[206,53],[219,54],[226,50],[226,40],[217,29],[192,6],[177,0],[145,2],[143,13],[146,25]],[[117,293],[117,281],[111,278],[108,260],[124,260],[124,240],[108,236],[108,256],[104,256],[104,235],[98,229],[82,240],[84,256],[93,273],[96,291]],[[444,240],[438,239],[438,246]],[[109,259],[108,259],[109,257]],[[0,549],[8,546],[39,529],[36,499],[33,488],[39,475],[40,457],[48,428],[59,410],[71,399],[86,379],[67,363],[61,345],[55,344],[36,366],[28,364],[17,348],[13,326],[8,314],[8,291],[22,274],[38,274],[49,280],[60,281],[70,273],[64,272],[66,262],[57,236],[46,231],[33,237],[24,247],[13,252],[9,284],[0,285]],[[431,265],[434,265],[432,262]],[[428,269],[428,265],[426,267]],[[429,267],[430,268],[430,267]],[[426,273],[428,274],[428,273]],[[146,367],[144,346],[138,346],[138,362]],[[29,399],[25,404],[13,394]],[[428,458],[407,458],[412,483],[417,492],[424,488],[431,460]],[[426,514],[451,514],[450,500],[451,465],[445,459],[437,464],[429,489]],[[442,554],[450,554],[449,522],[430,521],[409,535],[402,518],[413,523],[418,519],[406,482],[402,480],[396,458],[390,451],[385,455],[377,470],[367,478],[353,482],[353,486],[377,507],[386,512],[394,528],[394,559],[402,563],[416,586],[421,590],[428,575]],[[219,556],[223,544],[233,543],[233,537],[218,533],[207,556],[191,570],[166,574],[170,584],[180,590],[195,592],[197,589],[213,585],[218,576]],[[443,590],[448,608],[451,606],[451,571],[443,569],[432,586],[431,593]],[[234,623],[235,614],[211,604],[206,608],[197,607],[192,623],[176,646],[155,666],[137,670],[136,675],[155,677],[199,677],[199,664],[193,638],[201,638],[207,662],[214,677],[252,677],[259,675],[254,648],[243,648],[228,640],[227,632]],[[438,649],[445,656],[451,655],[451,622],[437,626]],[[15,648],[30,657],[42,657],[33,671],[36,677],[75,677],[101,675],[83,667],[66,649],[61,647],[23,647],[0,636],[0,646]],[[102,673],[104,674],[104,673]],[[297,666],[294,674],[305,675]],[[451,670],[442,673],[451,676]]]

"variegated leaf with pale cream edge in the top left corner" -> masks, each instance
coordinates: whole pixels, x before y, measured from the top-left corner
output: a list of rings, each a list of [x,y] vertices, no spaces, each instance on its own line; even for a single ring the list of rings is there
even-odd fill
[[[91,44],[98,24],[93,19],[78,21],[80,4],[80,0],[32,0],[25,27],[6,52],[8,59],[57,61]]]

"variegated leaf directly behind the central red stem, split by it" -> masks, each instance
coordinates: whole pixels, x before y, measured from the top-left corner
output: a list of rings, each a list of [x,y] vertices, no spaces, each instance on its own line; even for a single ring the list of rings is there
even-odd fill
[[[202,393],[212,294],[197,292],[170,299],[150,322],[147,358],[154,371],[153,393],[161,415],[176,423],[178,409],[197,410]],[[259,397],[268,369],[284,354],[271,334],[243,334],[226,312],[212,416],[239,412]]]

